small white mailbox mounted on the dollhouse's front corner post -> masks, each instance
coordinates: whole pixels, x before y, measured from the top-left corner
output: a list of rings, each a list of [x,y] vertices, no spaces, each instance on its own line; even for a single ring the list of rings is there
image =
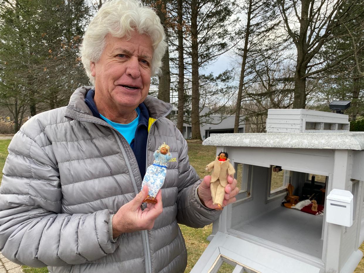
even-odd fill
[[[352,193],[347,190],[333,189],[326,199],[326,221],[340,226],[352,226]]]

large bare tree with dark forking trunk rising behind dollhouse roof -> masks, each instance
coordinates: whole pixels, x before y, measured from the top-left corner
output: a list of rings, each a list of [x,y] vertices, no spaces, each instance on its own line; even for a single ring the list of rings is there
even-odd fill
[[[360,0],[278,0],[278,8],[284,21],[285,30],[296,46],[296,70],[294,74],[293,108],[306,107],[306,79],[312,75],[336,66],[351,53],[326,66],[317,54],[333,39],[333,31],[341,24],[353,19],[351,13]]]

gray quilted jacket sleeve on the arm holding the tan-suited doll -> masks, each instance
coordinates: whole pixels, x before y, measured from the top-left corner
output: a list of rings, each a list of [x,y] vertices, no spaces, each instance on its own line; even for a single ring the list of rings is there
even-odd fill
[[[221,211],[209,209],[202,205],[197,195],[197,187],[200,185],[195,169],[190,165],[187,155],[188,147],[182,138],[182,149],[179,154],[179,193],[177,199],[177,221],[190,227],[203,227],[215,221]]]

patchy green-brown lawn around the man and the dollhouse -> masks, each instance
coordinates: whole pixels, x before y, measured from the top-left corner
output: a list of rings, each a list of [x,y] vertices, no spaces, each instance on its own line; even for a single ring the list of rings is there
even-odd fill
[[[0,170],[3,170],[5,163],[5,158],[7,156],[7,148],[10,140],[0,140]],[[197,173],[201,178],[210,173],[205,171],[205,166],[207,163],[214,160],[216,149],[212,146],[202,146],[201,141],[189,141],[189,158],[191,165],[196,169]],[[283,177],[283,172],[275,173],[274,180],[276,181],[274,186],[279,187],[281,185],[280,181]],[[3,176],[1,172],[0,178]],[[241,166],[238,167],[238,177],[241,177]],[[239,182],[239,179],[238,179]],[[187,268],[185,273],[189,273],[193,268],[194,264],[197,262],[198,258],[201,256],[202,252],[206,249],[209,241],[206,238],[210,235],[212,231],[212,225],[205,226],[201,229],[193,229],[184,225],[180,225],[183,237],[186,241],[186,247],[188,252]],[[364,252],[364,244],[361,245],[361,251]],[[47,268],[29,268],[28,266],[23,266],[24,272],[27,273],[47,273]],[[218,271],[218,273],[230,273],[233,271],[233,267],[224,264]],[[364,273],[364,258],[358,265],[355,273]]]

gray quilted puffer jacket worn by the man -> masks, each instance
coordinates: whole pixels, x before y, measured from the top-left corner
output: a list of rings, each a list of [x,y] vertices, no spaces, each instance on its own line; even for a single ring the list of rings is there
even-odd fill
[[[78,88],[67,107],[31,118],[10,143],[0,187],[1,252],[54,273],[183,272],[187,252],[177,222],[202,227],[219,212],[196,195],[200,181],[187,143],[164,118],[171,105],[150,96],[144,102],[155,119],[147,166],[163,142],[173,158],[162,188],[163,212],[153,229],[114,241],[110,215],[135,197],[142,179],[126,140],[84,103],[89,89]]]

